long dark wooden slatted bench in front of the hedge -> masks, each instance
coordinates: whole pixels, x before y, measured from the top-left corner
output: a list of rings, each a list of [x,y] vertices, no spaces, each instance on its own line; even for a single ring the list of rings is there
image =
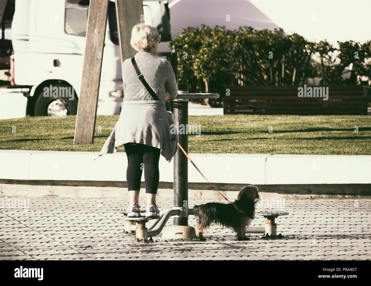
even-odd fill
[[[299,86],[225,86],[223,110],[224,114],[367,115],[366,87],[327,87],[328,100],[299,97]]]

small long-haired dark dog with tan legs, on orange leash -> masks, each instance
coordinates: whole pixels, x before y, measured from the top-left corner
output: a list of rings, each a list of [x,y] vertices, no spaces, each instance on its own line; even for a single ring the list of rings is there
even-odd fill
[[[196,237],[200,240],[206,240],[203,232],[211,224],[219,224],[223,227],[233,229],[237,233],[238,240],[248,240],[245,236],[246,228],[255,218],[256,199],[260,200],[257,187],[247,185],[244,187],[234,201],[237,208],[243,213],[237,212],[233,204],[206,203],[193,207],[193,215],[197,219]]]

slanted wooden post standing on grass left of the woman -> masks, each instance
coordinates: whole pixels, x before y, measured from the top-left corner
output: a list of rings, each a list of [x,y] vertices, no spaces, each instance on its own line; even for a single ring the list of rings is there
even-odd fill
[[[89,5],[84,65],[73,144],[90,144],[94,142],[108,1],[91,0]]]

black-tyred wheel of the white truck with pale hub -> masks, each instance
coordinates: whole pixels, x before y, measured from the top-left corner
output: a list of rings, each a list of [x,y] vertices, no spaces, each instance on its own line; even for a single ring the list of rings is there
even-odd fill
[[[54,88],[66,88],[63,85],[53,85]],[[72,89],[72,87],[69,87]],[[50,87],[47,87],[48,90],[43,90],[37,96],[35,103],[35,116],[66,116],[66,115],[76,115],[78,98],[76,95],[73,96],[73,100],[70,100],[68,96],[62,96],[64,93],[57,92],[52,96],[53,91]],[[74,94],[74,91],[73,91]],[[45,96],[50,95],[50,96]]]

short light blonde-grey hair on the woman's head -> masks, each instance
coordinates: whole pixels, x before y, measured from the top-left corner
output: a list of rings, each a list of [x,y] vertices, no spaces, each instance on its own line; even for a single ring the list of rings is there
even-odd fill
[[[149,52],[151,47],[160,43],[161,35],[155,27],[144,23],[136,24],[131,31],[130,45],[138,52]]]

